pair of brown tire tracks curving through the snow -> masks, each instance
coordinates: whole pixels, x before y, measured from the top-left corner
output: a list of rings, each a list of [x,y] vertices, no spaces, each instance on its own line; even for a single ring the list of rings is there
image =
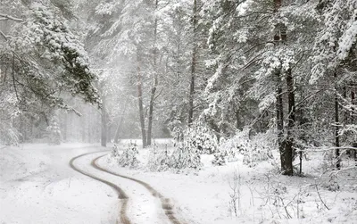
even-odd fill
[[[100,152],[95,152],[95,153],[104,153],[104,152],[105,151],[100,151]],[[129,203],[129,200],[130,200],[129,195],[127,195],[118,185],[115,185],[112,182],[110,182],[108,180],[105,180],[104,178],[98,178],[94,174],[91,174],[91,173],[89,173],[87,171],[80,170],[78,167],[76,167],[74,165],[74,161],[75,160],[79,159],[80,157],[85,157],[85,156],[87,156],[89,154],[93,154],[93,153],[84,153],[84,154],[80,154],[79,156],[76,156],[76,157],[72,158],[71,162],[70,162],[71,168],[73,170],[76,170],[79,173],[89,177],[89,178],[94,178],[95,180],[98,180],[98,181],[100,181],[100,182],[112,187],[117,192],[118,197],[120,199],[120,202],[122,204],[122,206],[120,208],[120,219],[117,220],[117,223],[130,224],[131,222],[130,222],[130,220],[128,218],[128,215],[127,215],[128,203]],[[159,213],[160,213],[160,210],[161,210],[165,214],[167,219],[170,221],[170,223],[172,223],[172,224],[184,224],[184,222],[182,222],[181,220],[179,220],[176,217],[175,212],[173,212],[173,204],[170,203],[170,199],[164,197],[157,190],[155,190],[154,187],[151,187],[149,184],[147,184],[144,181],[139,180],[137,178],[130,178],[128,176],[121,175],[120,173],[113,172],[111,170],[107,170],[104,167],[100,166],[98,164],[98,160],[103,158],[105,155],[106,154],[100,155],[100,156],[96,157],[95,159],[93,159],[91,161],[91,166],[93,168],[95,168],[96,170],[100,170],[101,172],[104,172],[106,174],[110,174],[111,176],[115,176],[115,177],[119,178],[119,180],[124,178],[124,179],[127,179],[127,180],[131,181],[133,184],[139,184],[140,186],[145,187],[149,191],[149,193],[151,193],[151,195],[154,196],[154,198],[157,198],[161,202],[161,204],[160,204],[161,208],[158,208],[158,210],[157,210],[158,211],[157,217],[160,217]],[[145,224],[145,223],[143,223],[143,224]]]

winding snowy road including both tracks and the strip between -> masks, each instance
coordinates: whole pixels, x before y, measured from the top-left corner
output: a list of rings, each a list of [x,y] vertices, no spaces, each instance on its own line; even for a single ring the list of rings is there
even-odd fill
[[[100,166],[98,161],[105,155],[103,151],[80,154],[71,159],[70,165],[72,169],[115,190],[120,199],[120,217],[117,223],[183,223],[176,217],[170,199],[153,187],[139,179],[123,176]]]

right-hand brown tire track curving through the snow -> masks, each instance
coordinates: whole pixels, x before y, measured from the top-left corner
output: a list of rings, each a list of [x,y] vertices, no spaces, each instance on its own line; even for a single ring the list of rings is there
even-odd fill
[[[162,194],[160,194],[157,190],[155,190],[153,187],[151,187],[149,184],[145,183],[142,180],[139,180],[137,178],[130,178],[128,176],[121,175],[119,173],[113,172],[111,170],[106,170],[103,167],[99,166],[97,161],[103,158],[106,154],[101,155],[96,157],[92,162],[91,165],[97,169],[104,171],[106,173],[112,174],[114,176],[120,177],[120,178],[127,178],[129,180],[132,180],[134,182],[137,182],[138,184],[142,185],[145,187],[154,197],[159,198],[161,203],[162,203],[162,210],[165,212],[165,215],[168,217],[170,222],[172,224],[184,224],[183,222],[179,221],[178,218],[176,218],[175,213],[173,212],[173,204],[170,203],[170,199],[164,197]]]

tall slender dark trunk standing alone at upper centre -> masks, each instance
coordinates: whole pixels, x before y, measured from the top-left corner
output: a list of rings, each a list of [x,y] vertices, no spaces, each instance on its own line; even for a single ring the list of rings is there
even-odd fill
[[[195,66],[197,60],[197,0],[194,0],[193,9],[194,46],[192,49],[191,80],[188,96],[188,126],[191,126],[194,118],[194,97],[195,97]]]

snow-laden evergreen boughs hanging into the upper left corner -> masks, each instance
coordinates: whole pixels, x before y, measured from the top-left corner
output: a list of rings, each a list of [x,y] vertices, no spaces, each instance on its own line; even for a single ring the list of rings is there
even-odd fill
[[[100,104],[87,53],[68,26],[63,13],[69,16],[69,12],[61,5],[59,1],[0,4],[0,73],[4,87],[0,94],[15,101],[7,112],[10,115],[19,110],[29,116],[29,112],[41,110],[41,104],[41,112],[56,107],[75,112],[64,102],[65,92]]]

